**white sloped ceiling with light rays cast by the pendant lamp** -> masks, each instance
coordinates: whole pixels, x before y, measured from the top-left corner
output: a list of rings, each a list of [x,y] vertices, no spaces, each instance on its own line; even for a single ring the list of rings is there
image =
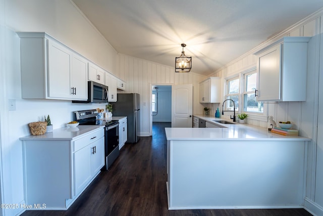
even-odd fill
[[[73,0],[119,52],[208,75],[323,7],[322,0]]]

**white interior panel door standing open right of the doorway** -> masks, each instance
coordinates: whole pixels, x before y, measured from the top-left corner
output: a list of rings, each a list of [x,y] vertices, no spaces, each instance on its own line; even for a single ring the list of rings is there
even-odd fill
[[[172,128],[191,128],[193,85],[172,85]]]

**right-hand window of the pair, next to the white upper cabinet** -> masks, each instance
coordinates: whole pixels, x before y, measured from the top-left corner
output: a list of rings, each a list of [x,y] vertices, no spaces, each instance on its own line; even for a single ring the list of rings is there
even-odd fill
[[[257,87],[256,71],[245,73],[243,80],[243,111],[263,113],[263,103],[257,101],[254,92]]]

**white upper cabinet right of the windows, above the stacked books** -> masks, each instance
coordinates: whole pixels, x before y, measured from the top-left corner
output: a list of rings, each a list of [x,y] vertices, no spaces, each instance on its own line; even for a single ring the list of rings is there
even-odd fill
[[[255,53],[258,101],[305,101],[307,42],[310,37],[284,37]]]

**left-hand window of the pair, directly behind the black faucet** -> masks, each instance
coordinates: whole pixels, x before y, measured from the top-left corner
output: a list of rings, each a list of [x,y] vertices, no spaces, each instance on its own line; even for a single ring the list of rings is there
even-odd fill
[[[239,77],[235,77],[227,80],[227,99],[231,99],[234,101],[236,106],[236,111],[239,110]],[[231,100],[227,100],[225,103],[225,110],[233,111],[233,102]]]

